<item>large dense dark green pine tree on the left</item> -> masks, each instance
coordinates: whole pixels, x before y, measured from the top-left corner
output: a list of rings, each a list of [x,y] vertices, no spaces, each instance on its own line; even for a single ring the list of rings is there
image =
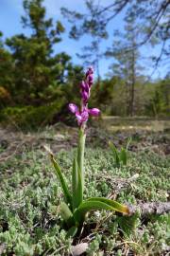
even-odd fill
[[[74,69],[71,57],[65,52],[54,54],[54,46],[61,40],[64,27],[46,18],[42,0],[24,0],[24,27],[30,35],[14,35],[6,40],[10,52],[0,46],[3,58],[0,71],[5,74],[0,86],[8,89],[11,101],[8,105],[40,106],[60,101],[60,84],[68,84],[68,72]],[[2,48],[1,48],[2,47]],[[73,70],[74,72],[74,70]],[[62,96],[64,94],[62,93]],[[7,104],[4,104],[6,106]]]

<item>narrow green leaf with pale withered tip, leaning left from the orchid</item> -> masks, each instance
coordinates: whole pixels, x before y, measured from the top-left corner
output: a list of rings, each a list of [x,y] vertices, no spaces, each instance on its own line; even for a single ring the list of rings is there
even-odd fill
[[[60,170],[60,167],[59,167],[59,164],[58,162],[55,160],[54,158],[54,155],[53,153],[51,152],[51,150],[44,146],[45,150],[48,152],[48,154],[50,155],[50,158],[51,158],[51,161],[54,165],[54,168],[56,170],[56,174],[59,178],[59,182],[60,182],[60,185],[61,185],[61,188],[62,188],[62,191],[64,193],[64,196],[65,196],[65,199],[66,199],[66,203],[69,204],[70,206],[72,206],[72,195],[71,193],[69,192],[69,189],[68,189],[68,186],[65,182],[65,177],[64,175],[61,173],[61,170]]]

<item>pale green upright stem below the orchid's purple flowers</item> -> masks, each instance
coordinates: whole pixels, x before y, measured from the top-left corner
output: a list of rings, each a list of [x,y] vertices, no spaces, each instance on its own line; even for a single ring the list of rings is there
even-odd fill
[[[82,190],[84,188],[84,148],[85,148],[86,134],[84,133],[84,128],[79,129],[78,137],[78,147],[77,147],[77,164],[79,166],[81,181],[82,181]]]

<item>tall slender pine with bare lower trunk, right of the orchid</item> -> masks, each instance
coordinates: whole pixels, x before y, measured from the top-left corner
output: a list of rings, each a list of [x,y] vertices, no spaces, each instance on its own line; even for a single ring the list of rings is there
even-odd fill
[[[121,78],[125,83],[127,97],[127,115],[135,114],[135,90],[140,77],[142,66],[139,65],[140,52],[137,49],[138,27],[135,19],[129,16],[126,19],[125,32],[115,31],[112,48],[106,52],[107,57],[113,57],[110,69],[112,75]]]

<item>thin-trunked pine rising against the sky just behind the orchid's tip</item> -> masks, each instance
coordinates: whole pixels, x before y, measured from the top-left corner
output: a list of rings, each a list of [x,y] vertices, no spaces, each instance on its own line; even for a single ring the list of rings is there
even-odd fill
[[[100,60],[104,57],[104,53],[101,52],[101,42],[103,39],[108,38],[108,32],[105,29],[105,25],[102,23],[104,18],[101,14],[97,14],[100,10],[99,5],[94,4],[93,0],[85,1],[87,9],[86,14],[79,14],[76,11],[69,11],[66,8],[62,8],[62,14],[67,17],[73,24],[70,31],[70,37],[72,39],[79,39],[84,35],[91,37],[90,44],[82,47],[82,53],[77,53],[83,64],[93,65],[97,74],[97,86],[100,86]],[[88,17],[93,17],[89,19]],[[79,22],[79,23],[78,23]]]

